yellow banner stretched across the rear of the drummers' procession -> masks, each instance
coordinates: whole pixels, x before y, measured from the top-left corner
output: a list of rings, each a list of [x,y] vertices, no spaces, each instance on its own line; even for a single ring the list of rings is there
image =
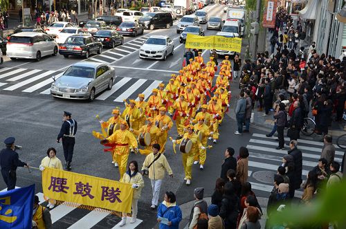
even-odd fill
[[[217,49],[240,53],[242,50],[242,38],[224,36],[203,37],[188,33],[185,48]]]

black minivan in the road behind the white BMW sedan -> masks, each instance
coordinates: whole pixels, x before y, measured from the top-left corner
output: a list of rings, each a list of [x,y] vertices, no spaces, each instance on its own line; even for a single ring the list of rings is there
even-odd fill
[[[147,12],[138,20],[144,28],[153,30],[154,28],[170,28],[173,26],[173,19],[170,12]]]

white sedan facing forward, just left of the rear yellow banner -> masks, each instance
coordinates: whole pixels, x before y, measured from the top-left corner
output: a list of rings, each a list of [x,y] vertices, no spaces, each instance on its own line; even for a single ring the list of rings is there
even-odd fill
[[[140,58],[167,59],[167,55],[173,55],[174,42],[167,36],[150,36],[139,49]]]

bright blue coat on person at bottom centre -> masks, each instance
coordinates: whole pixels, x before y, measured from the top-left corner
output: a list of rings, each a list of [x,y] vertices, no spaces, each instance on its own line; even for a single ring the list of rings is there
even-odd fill
[[[176,203],[170,203],[170,207],[167,207],[168,203],[163,201],[158,205],[157,217],[167,218],[168,221],[172,222],[171,226],[167,226],[163,223],[160,223],[160,229],[179,229],[179,223],[183,217],[179,205]]]

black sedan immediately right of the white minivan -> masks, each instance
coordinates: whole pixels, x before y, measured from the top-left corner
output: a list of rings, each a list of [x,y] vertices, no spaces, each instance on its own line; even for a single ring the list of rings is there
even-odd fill
[[[87,59],[91,53],[100,54],[101,52],[102,43],[96,41],[91,35],[72,35],[59,46],[59,54],[64,55],[65,58],[69,55],[79,55]]]

